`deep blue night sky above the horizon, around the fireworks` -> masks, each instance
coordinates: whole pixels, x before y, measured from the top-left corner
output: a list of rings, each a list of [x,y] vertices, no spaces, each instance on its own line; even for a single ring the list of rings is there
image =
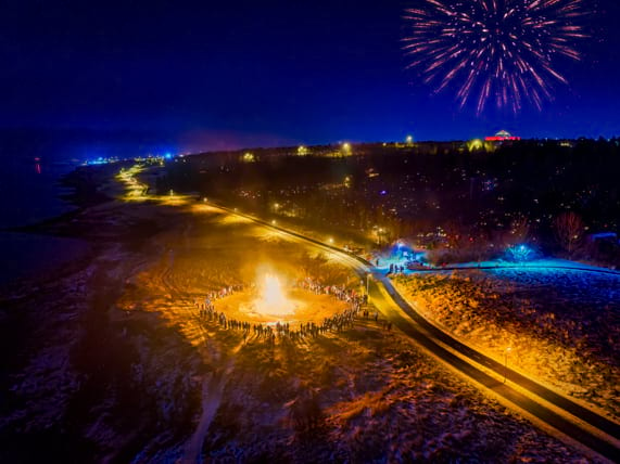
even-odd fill
[[[402,14],[415,0],[4,0],[0,125],[213,147],[620,134],[620,7],[597,3],[583,61],[559,67],[570,87],[542,112],[477,116],[405,69]]]

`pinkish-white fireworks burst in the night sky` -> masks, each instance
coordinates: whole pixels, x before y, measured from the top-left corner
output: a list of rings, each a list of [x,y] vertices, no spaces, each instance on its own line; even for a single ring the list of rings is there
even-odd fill
[[[450,86],[464,107],[476,99],[518,112],[523,101],[539,109],[554,82],[567,80],[554,65],[579,60],[575,41],[586,37],[581,0],[418,0],[406,10],[408,67],[440,92]]]

